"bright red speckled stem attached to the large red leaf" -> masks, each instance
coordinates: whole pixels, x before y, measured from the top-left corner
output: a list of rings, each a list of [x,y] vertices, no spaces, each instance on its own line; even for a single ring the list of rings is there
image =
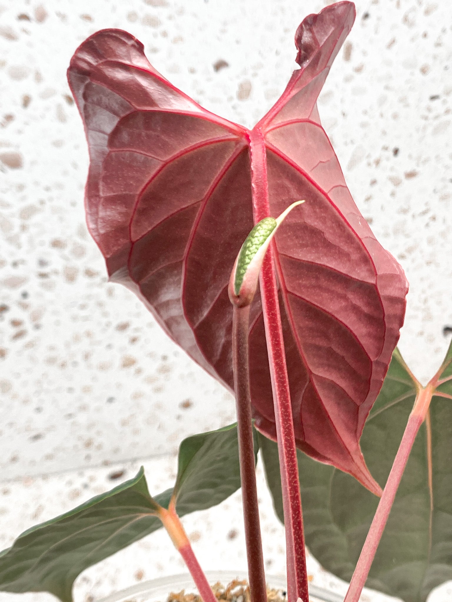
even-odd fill
[[[265,141],[262,131],[250,132],[251,186],[253,189],[254,223],[270,215],[267,185]],[[275,408],[278,456],[283,492],[284,526],[286,529],[287,598],[295,602],[301,598],[309,602],[304,548],[303,513],[301,510],[300,481],[298,480],[297,447],[293,432],[289,377],[281,326],[278,288],[274,267],[274,241],[263,260],[260,272],[260,294],[265,323],[270,376]]]

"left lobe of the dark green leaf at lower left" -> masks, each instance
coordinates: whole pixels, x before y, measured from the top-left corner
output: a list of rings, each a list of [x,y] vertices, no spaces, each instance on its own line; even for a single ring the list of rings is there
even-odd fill
[[[167,492],[155,497],[167,499]],[[140,468],[134,479],[22,533],[0,555],[0,589],[71,601],[81,571],[162,526],[151,515],[156,507]]]

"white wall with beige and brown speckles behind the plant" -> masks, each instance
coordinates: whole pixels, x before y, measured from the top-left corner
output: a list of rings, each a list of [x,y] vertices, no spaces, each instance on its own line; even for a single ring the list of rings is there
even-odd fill
[[[87,149],[65,71],[124,28],[196,101],[252,126],[318,0],[0,0],[3,477],[172,452],[233,421],[229,394],[108,284],[84,225]],[[358,0],[319,111],[363,215],[406,270],[400,347],[431,375],[452,326],[452,3]]]

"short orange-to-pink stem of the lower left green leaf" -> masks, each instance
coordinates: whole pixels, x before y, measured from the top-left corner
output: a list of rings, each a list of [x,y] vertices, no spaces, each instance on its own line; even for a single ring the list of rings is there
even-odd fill
[[[207,581],[206,575],[196,559],[184,527],[176,514],[174,504],[170,503],[168,510],[161,508],[159,518],[168,531],[168,535],[171,537],[175,548],[183,557],[203,602],[218,602]]]

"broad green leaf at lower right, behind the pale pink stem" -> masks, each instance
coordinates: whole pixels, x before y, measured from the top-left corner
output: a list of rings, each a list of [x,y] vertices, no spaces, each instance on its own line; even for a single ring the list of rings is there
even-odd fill
[[[440,384],[404,471],[366,585],[424,602],[452,579],[452,344]],[[364,457],[385,485],[415,400],[415,384],[395,350],[361,438]],[[443,397],[445,396],[445,397]],[[278,453],[259,436],[275,511],[283,520]],[[347,474],[299,453],[306,543],[331,573],[350,581],[378,499]]]

